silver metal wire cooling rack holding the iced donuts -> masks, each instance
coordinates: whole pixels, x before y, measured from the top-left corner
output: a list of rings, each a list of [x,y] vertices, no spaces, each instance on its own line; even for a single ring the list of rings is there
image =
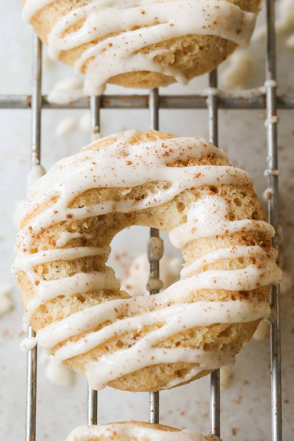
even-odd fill
[[[41,110],[42,108],[90,108],[93,126],[93,138],[100,127],[100,109],[139,109],[149,108],[150,127],[158,130],[158,111],[168,109],[208,109],[209,141],[218,145],[218,109],[266,109],[267,131],[267,175],[271,198],[268,200],[268,220],[276,229],[278,226],[278,149],[276,111],[293,109],[294,97],[276,95],[276,56],[275,56],[275,13],[274,0],[266,0],[267,45],[266,45],[266,93],[258,92],[248,97],[246,93],[238,97],[222,95],[217,89],[217,71],[209,75],[207,93],[189,96],[160,96],[158,90],[151,90],[148,95],[105,95],[101,97],[83,98],[68,105],[48,103],[47,97],[41,94],[41,41],[33,39],[33,88],[32,95],[0,95],[0,108],[31,108],[32,110],[32,166],[41,161]],[[151,228],[150,238],[158,237],[159,231]],[[152,247],[152,239],[149,249]],[[273,245],[278,251],[276,237]],[[150,259],[149,259],[150,261]],[[277,259],[279,261],[279,258]],[[151,279],[159,279],[159,262],[150,262]],[[160,283],[160,282],[158,282]],[[154,286],[154,285],[153,285]],[[158,291],[150,291],[155,294]],[[269,298],[271,306],[271,382],[272,382],[272,441],[282,441],[282,400],[281,400],[281,349],[280,349],[280,312],[279,286],[272,286]],[[29,327],[28,336],[35,336]],[[37,347],[27,355],[27,391],[26,391],[26,434],[25,441],[36,441],[36,396],[37,396]],[[159,422],[159,392],[149,394],[149,421]],[[97,392],[88,386],[88,424],[97,424]],[[220,371],[210,375],[210,430],[220,436]]]

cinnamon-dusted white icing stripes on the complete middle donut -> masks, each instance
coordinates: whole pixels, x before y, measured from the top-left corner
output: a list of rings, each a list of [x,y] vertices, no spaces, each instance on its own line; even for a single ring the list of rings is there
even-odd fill
[[[87,217],[107,214],[112,211],[128,213],[131,211],[155,207],[171,201],[175,195],[191,187],[203,185],[221,185],[234,183],[253,187],[250,176],[232,166],[199,165],[190,167],[169,167],[176,159],[185,161],[189,157],[203,157],[214,154],[225,159],[222,151],[200,138],[172,138],[131,144],[136,131],[125,133],[111,146],[84,150],[73,157],[59,161],[48,173],[39,179],[33,194],[23,211],[31,213],[37,206],[56,198],[53,206],[45,209],[18,233],[19,247],[14,273],[24,272],[33,284],[35,297],[26,306],[24,321],[31,317],[43,303],[59,295],[71,296],[91,290],[118,289],[119,284],[111,268],[101,272],[78,273],[57,280],[44,280],[34,271],[36,265],[55,260],[70,261],[76,258],[108,255],[109,247],[69,247],[50,250],[29,251],[33,245],[33,236],[58,222],[84,220]],[[92,144],[93,146],[95,145]],[[89,147],[91,147],[90,145]],[[139,202],[134,200],[104,201],[92,206],[68,208],[71,201],[90,188],[99,187],[135,187],[153,181],[168,181],[169,187],[158,189],[157,193],[146,194]],[[219,196],[203,196],[192,202],[187,210],[187,221],[170,232],[171,242],[183,248],[190,241],[201,237],[227,235],[234,232],[259,230],[268,237],[274,235],[274,229],[263,221],[238,220],[228,221],[227,202]],[[89,234],[63,232],[56,241],[57,247],[65,246],[72,239],[83,237],[91,239]],[[214,264],[222,259],[254,258],[256,264],[234,270],[205,270],[205,265]],[[261,269],[258,263],[262,262]],[[184,347],[160,348],[168,337],[192,329],[195,326],[208,326],[214,323],[244,323],[267,317],[269,306],[266,302],[255,300],[187,303],[187,298],[195,290],[223,289],[229,291],[253,290],[257,287],[278,283],[281,272],[275,265],[275,251],[267,254],[259,246],[236,246],[215,250],[201,256],[190,266],[182,269],[178,282],[163,292],[152,296],[138,296],[130,299],[116,299],[87,307],[71,314],[60,321],[52,322],[37,333],[37,341],[43,348],[54,348],[56,344],[88,332],[85,337],[68,341],[56,353],[56,359],[63,361],[92,350],[114,336],[130,329],[138,333],[143,326],[160,323],[162,326],[140,336],[128,349],[118,349],[115,353],[104,354],[97,361],[86,365],[86,376],[93,389],[101,389],[108,381],[134,372],[145,366],[158,363],[186,362],[193,363],[190,372],[184,378],[177,378],[164,389],[188,381],[201,370],[216,369],[234,363],[234,354],[230,351],[214,349],[204,351]],[[94,327],[104,325],[98,331]]]

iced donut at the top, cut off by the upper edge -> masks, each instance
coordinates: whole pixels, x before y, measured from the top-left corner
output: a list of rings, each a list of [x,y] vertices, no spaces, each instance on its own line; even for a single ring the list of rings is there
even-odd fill
[[[49,55],[86,73],[86,92],[186,84],[253,33],[262,0],[22,0]]]

